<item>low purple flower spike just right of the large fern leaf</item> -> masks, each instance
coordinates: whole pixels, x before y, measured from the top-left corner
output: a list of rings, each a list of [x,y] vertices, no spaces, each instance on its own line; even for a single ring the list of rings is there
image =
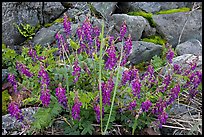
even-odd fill
[[[76,119],[80,119],[80,108],[82,106],[82,103],[78,100],[78,98],[74,99],[74,105],[72,107],[72,117]]]

